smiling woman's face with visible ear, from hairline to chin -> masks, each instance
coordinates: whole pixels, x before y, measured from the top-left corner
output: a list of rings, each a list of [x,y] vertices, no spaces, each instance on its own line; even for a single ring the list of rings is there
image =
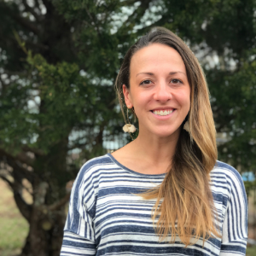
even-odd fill
[[[165,44],[150,44],[131,58],[127,108],[134,108],[139,130],[148,136],[179,135],[189,113],[190,86],[182,57]]]

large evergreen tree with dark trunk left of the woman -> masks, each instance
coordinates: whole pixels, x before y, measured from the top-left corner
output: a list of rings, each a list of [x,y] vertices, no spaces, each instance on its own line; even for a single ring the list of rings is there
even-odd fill
[[[149,3],[0,2],[0,177],[30,225],[21,255],[59,255],[65,187],[81,165],[70,153],[79,149],[83,161],[105,153],[104,134],[121,131],[112,85]]]

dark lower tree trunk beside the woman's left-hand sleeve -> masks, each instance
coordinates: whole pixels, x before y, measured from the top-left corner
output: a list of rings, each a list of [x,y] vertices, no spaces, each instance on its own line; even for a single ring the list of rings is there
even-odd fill
[[[20,256],[59,256],[69,200],[65,185],[67,139],[56,144],[49,154],[37,158],[33,179],[33,203],[27,221],[30,229]],[[61,199],[62,198],[62,199]]]

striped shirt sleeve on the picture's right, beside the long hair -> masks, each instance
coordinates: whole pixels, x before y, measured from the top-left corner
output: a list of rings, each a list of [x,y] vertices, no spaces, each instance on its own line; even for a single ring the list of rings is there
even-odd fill
[[[246,255],[247,195],[241,175],[234,169],[227,176],[230,197],[224,215],[220,256]]]

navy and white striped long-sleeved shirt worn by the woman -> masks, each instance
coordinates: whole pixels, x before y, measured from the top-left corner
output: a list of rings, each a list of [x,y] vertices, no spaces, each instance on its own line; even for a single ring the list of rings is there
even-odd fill
[[[89,160],[73,184],[61,256],[245,255],[247,196],[240,174],[218,161],[210,173],[221,238],[185,247],[159,241],[151,213],[155,200],[137,195],[159,185],[166,174],[148,175],[122,166],[111,154]]]

